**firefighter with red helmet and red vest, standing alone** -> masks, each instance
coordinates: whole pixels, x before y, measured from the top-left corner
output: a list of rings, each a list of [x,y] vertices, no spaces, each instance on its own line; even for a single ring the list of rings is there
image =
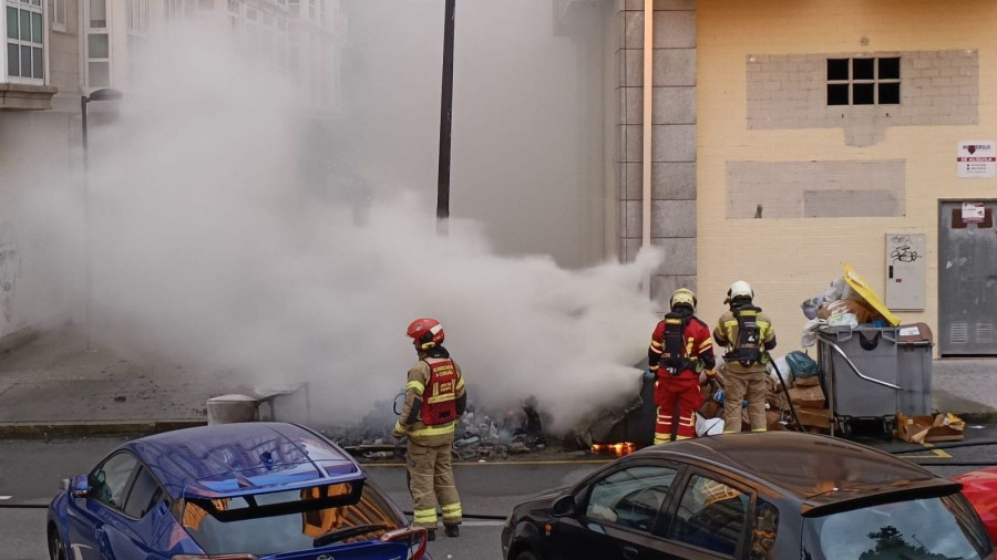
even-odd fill
[[[453,479],[451,453],[454,428],[464,413],[467,394],[461,367],[443,348],[443,326],[434,319],[417,319],[407,332],[419,361],[409,370],[405,404],[394,424],[394,437],[408,436],[405,466],[414,525],[436,535],[436,505],[448,537],[460,535],[461,498]]]

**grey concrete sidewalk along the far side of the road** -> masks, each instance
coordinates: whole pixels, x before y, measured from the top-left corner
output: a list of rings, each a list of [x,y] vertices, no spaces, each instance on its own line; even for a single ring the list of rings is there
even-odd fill
[[[997,359],[935,360],[933,407],[997,422]],[[153,433],[207,423],[207,401],[251,392],[217,373],[85,350],[74,328],[0,354],[0,438]],[[280,419],[280,418],[278,418]]]

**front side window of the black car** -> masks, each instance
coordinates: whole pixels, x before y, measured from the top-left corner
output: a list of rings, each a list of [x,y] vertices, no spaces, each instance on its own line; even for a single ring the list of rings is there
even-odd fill
[[[593,485],[585,515],[650,532],[676,474],[675,468],[648,465],[617,470]]]

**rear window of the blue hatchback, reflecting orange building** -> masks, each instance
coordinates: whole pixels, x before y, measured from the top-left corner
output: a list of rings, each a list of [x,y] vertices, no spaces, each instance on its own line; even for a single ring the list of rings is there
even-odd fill
[[[346,531],[335,545],[376,539],[405,525],[374,487],[362,483],[184,501],[181,521],[208,554],[273,554],[315,548],[315,539]],[[326,539],[330,540],[330,539]]]

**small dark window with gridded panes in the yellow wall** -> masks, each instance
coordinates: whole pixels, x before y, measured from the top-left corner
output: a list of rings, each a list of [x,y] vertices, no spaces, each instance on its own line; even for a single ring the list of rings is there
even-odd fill
[[[828,59],[828,105],[898,105],[900,56]]]

